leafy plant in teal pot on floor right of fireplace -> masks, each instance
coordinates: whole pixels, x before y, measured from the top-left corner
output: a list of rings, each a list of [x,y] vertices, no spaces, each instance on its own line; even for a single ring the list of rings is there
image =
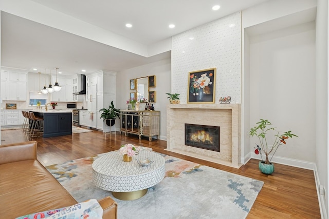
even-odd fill
[[[269,133],[274,134],[274,141],[272,144],[267,142],[266,135]],[[298,137],[297,135],[287,132],[279,132],[276,128],[272,127],[272,124],[268,120],[262,120],[256,123],[256,126],[250,129],[250,136],[257,136],[259,138],[260,146],[255,147],[255,154],[260,154],[262,161],[259,163],[259,169],[266,174],[271,174],[274,171],[274,165],[271,163],[273,155],[277,152],[278,148],[282,144],[286,144],[289,137]],[[265,154],[265,161],[263,160],[262,152]],[[270,154],[271,157],[269,158]]]

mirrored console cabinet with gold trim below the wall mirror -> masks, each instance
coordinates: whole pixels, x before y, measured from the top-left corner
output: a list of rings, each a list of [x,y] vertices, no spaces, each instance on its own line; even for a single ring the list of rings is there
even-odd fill
[[[142,136],[153,136],[159,138],[160,135],[160,111],[154,110],[120,110],[121,134],[124,132],[136,134],[141,140]]]

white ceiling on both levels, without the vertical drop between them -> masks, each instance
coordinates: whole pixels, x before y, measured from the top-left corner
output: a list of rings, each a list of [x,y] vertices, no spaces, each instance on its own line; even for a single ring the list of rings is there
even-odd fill
[[[178,33],[269,0],[32,0],[142,45],[152,46]],[[213,11],[214,5],[220,10]],[[125,24],[131,23],[132,28]],[[168,28],[175,24],[174,29]],[[63,74],[121,71],[170,58],[170,51],[140,56],[2,11],[1,65]],[[38,68],[33,71],[33,68]]]

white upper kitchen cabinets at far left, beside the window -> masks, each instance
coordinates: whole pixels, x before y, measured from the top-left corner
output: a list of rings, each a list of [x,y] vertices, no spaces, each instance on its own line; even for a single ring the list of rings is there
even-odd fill
[[[0,79],[1,98],[4,101],[26,101],[27,71],[2,69]]]

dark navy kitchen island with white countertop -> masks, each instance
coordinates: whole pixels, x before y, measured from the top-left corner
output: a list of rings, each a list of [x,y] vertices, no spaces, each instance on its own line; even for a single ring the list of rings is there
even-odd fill
[[[71,110],[30,110],[35,116],[43,118],[43,137],[72,134]]]

